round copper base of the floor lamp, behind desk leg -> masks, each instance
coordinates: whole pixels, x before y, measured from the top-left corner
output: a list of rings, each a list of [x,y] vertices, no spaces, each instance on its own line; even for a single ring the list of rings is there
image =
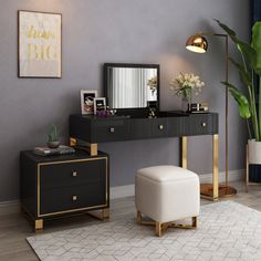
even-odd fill
[[[237,189],[231,186],[219,185],[219,198],[231,197],[237,194]],[[201,184],[200,195],[206,198],[213,198],[213,185],[212,184]]]

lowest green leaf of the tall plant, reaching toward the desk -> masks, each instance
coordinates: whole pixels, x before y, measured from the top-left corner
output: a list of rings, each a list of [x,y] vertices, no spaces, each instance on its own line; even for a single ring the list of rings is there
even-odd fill
[[[234,101],[238,103],[239,115],[244,119],[250,118],[251,113],[248,98],[232,84],[227,82],[221,83],[228,88]]]

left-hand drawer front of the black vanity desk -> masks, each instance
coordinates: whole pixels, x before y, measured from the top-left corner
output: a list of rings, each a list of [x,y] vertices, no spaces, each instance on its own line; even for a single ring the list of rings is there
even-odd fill
[[[124,119],[96,121],[93,125],[92,143],[125,140],[128,132],[128,123]]]

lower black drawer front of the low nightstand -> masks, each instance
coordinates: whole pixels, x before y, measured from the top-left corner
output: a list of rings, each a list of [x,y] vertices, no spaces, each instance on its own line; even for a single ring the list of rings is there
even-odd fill
[[[106,206],[106,182],[85,182],[80,186],[41,189],[40,217]]]

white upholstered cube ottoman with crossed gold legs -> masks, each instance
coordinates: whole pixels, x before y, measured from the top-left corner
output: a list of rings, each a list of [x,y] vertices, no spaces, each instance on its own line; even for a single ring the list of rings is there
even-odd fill
[[[184,228],[196,228],[200,208],[198,176],[176,166],[155,166],[139,169],[135,177],[135,201],[138,223],[142,215],[153,219],[156,234],[168,227],[177,227],[176,220],[192,218],[191,226],[178,225]]]

